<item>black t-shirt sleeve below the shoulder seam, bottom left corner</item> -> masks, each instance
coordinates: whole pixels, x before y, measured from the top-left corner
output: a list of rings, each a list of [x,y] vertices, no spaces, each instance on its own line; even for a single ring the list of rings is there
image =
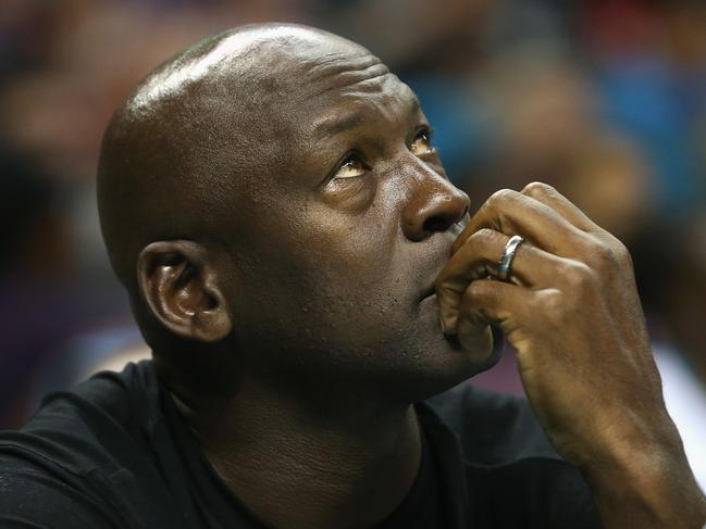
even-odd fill
[[[119,529],[96,499],[33,462],[0,455],[0,527]]]

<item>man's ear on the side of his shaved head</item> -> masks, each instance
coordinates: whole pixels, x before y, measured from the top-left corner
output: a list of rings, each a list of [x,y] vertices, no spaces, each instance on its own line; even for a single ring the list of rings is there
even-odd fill
[[[200,244],[152,242],[137,259],[137,280],[151,313],[172,332],[203,342],[231,332],[225,298]]]

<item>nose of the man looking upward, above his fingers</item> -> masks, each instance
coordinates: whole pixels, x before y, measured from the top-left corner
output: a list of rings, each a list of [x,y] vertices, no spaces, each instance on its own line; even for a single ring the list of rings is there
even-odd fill
[[[424,174],[402,211],[402,231],[414,242],[446,231],[468,213],[468,194],[436,173]]]

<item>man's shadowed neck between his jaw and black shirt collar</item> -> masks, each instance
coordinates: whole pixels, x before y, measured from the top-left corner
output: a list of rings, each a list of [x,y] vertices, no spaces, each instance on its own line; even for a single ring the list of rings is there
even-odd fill
[[[223,481],[265,524],[373,526],[417,476],[414,408],[350,389],[317,393],[244,383],[237,396],[177,405]]]

